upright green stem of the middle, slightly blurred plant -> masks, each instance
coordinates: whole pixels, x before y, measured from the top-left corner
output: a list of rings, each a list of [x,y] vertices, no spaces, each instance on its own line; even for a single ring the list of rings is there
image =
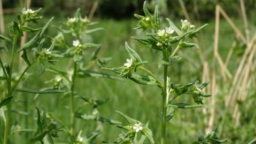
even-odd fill
[[[75,78],[76,78],[76,62],[74,62],[74,74],[72,76],[72,85],[71,85],[71,94],[69,97],[69,109],[70,109],[70,123],[71,123],[71,129],[70,133],[71,135],[74,134],[75,131],[75,118],[74,118],[74,88],[75,88]],[[73,139],[72,139],[73,140]]]

